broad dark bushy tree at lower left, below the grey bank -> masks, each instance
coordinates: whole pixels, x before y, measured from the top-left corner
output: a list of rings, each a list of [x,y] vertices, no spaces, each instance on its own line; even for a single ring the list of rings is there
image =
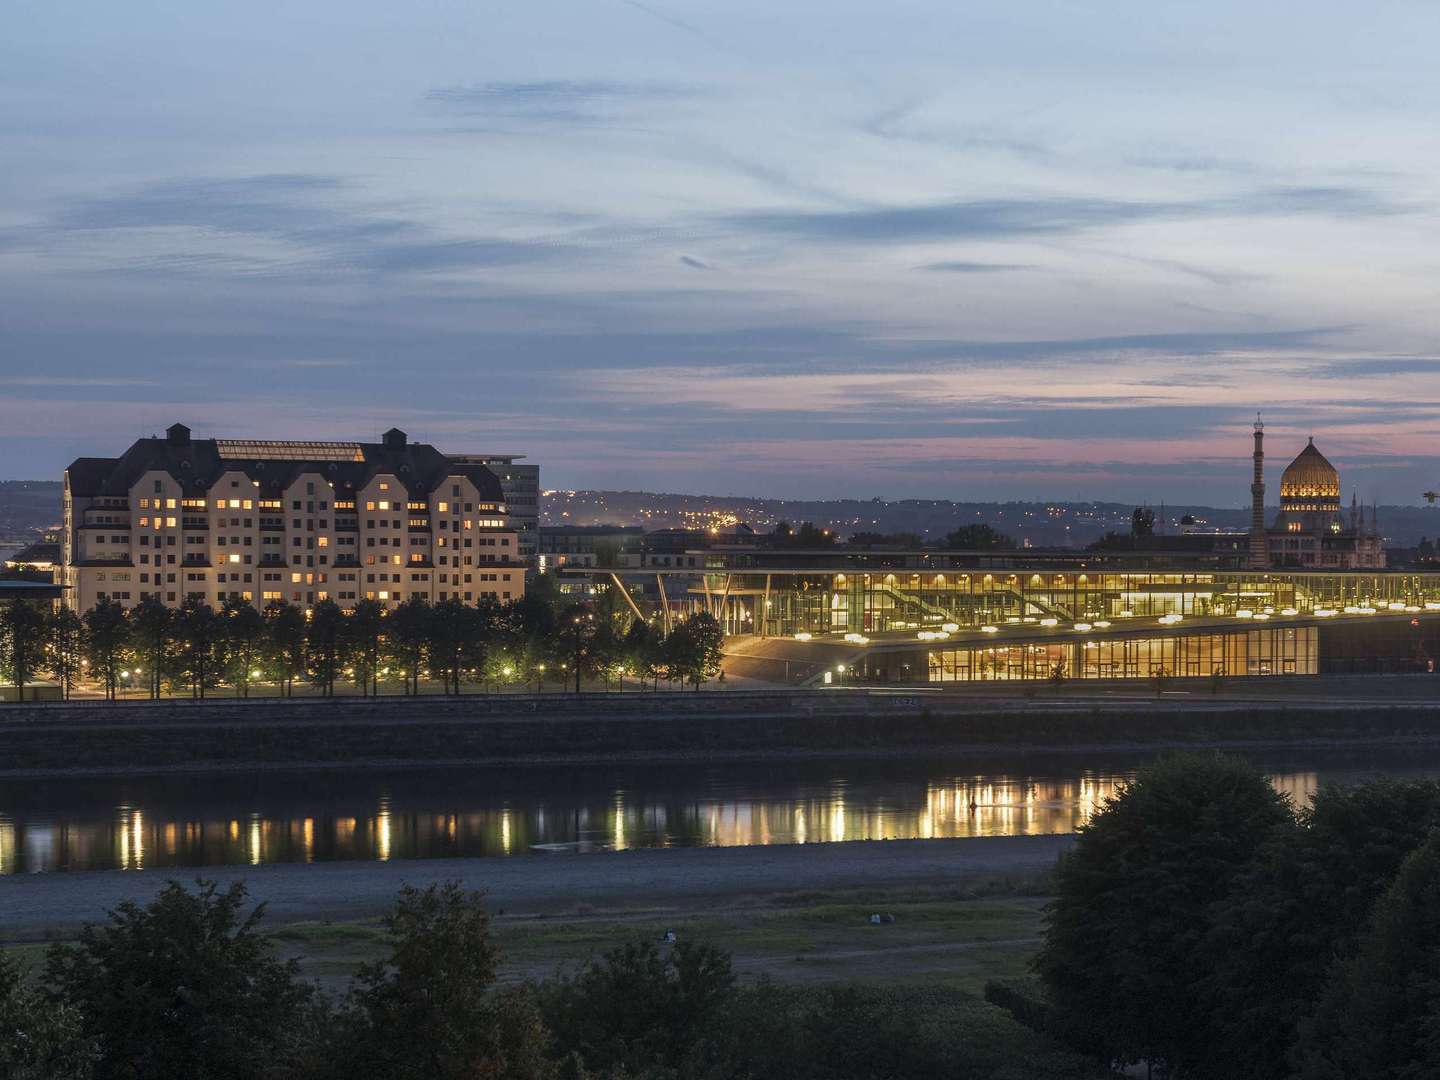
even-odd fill
[[[249,913],[245,886],[166,884],[141,907],[50,949],[49,991],[76,1007],[104,1058],[98,1080],[251,1080],[298,1053],[297,1014],[311,992],[281,963]]]

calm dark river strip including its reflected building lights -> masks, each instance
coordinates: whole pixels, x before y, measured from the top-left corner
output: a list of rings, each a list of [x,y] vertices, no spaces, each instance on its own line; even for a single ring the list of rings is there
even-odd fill
[[[13,782],[0,874],[1071,832],[1143,762],[1090,760]],[[1303,805],[1326,779],[1440,775],[1440,750],[1259,763]]]

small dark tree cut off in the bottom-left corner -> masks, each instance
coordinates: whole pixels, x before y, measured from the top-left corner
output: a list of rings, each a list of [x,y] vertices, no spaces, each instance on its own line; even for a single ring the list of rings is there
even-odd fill
[[[73,1005],[49,1002],[0,952],[0,1076],[6,1080],[89,1080],[99,1057]]]

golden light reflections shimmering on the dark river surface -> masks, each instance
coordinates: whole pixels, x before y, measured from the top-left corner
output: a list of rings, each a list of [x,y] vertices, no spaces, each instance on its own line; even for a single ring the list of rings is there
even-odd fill
[[[1319,772],[1272,782],[1296,806]],[[1123,775],[1077,772],[796,783],[796,795],[557,792],[481,808],[405,809],[382,796],[361,816],[330,809],[261,809],[184,816],[121,804],[94,816],[12,815],[0,806],[0,874],[56,868],[199,867],[274,861],[442,858],[527,854],[534,845],[588,848],[815,844],[850,840],[1005,837],[1073,832],[1113,796]],[[809,793],[804,788],[809,786]],[[243,822],[243,824],[242,824]]]

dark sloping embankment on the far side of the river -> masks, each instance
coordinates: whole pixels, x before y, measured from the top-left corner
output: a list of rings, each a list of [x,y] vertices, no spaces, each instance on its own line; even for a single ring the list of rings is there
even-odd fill
[[[1224,696],[1110,685],[12,706],[0,778],[1433,743],[1437,691],[1424,677],[1349,677],[1247,680]]]

